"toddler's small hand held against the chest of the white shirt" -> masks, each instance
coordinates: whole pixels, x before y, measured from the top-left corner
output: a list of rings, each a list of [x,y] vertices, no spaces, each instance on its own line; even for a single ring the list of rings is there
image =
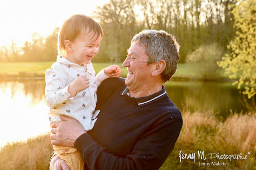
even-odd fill
[[[87,89],[89,85],[89,78],[86,75],[79,75],[70,85],[68,88],[68,92],[70,97],[74,97],[77,95],[79,91]]]

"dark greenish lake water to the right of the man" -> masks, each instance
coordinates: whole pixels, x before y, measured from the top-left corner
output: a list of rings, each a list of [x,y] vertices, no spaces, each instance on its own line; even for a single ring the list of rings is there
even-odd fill
[[[213,111],[222,119],[233,112],[247,111],[240,102],[242,95],[231,83],[177,82],[165,84],[170,99],[179,109]]]

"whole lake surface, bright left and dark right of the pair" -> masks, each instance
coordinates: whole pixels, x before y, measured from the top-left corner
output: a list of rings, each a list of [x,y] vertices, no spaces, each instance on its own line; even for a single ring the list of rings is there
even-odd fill
[[[230,110],[247,111],[231,83],[170,81],[165,87],[181,111],[186,105],[192,111],[213,111],[224,119]],[[44,79],[0,81],[0,146],[50,130],[44,88]]]

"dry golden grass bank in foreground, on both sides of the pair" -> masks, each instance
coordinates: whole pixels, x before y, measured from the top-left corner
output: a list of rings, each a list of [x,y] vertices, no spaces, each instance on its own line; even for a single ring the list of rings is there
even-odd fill
[[[256,113],[234,114],[223,123],[210,112],[183,111],[182,115],[183,128],[180,136],[160,170],[256,169]],[[204,151],[206,160],[198,159],[198,151]],[[180,159],[180,152],[181,156],[195,153],[195,162],[191,159]],[[0,151],[0,169],[47,170],[51,153],[49,134],[30,138],[26,142],[7,144]],[[219,153],[220,156],[241,153],[247,158],[211,160],[209,153]],[[198,167],[199,162],[211,165]],[[226,163],[226,166],[214,166],[212,162]]]

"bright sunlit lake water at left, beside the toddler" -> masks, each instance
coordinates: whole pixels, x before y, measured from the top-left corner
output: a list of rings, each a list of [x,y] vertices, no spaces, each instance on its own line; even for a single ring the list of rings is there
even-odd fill
[[[0,82],[0,146],[49,130],[44,80]]]

